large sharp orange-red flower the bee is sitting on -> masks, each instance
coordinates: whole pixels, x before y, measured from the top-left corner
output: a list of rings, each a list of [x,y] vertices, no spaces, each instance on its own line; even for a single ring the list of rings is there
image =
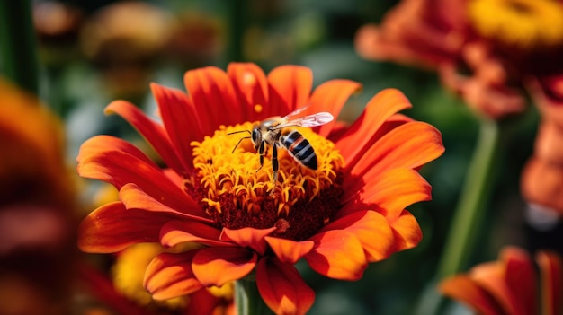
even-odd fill
[[[305,313],[315,293],[293,266],[304,258],[319,274],[357,280],[369,262],[421,240],[405,207],[430,199],[418,174],[443,152],[434,127],[397,112],[410,108],[389,89],[375,95],[350,127],[334,121],[296,127],[315,148],[317,171],[273,149],[260,162],[246,131],[265,118],[308,108],[335,117],[359,83],[331,80],[311,93],[312,73],[280,66],[266,75],[255,64],[188,71],[188,94],[152,84],[162,124],[126,101],[117,113],[160,154],[165,168],[113,136],[94,136],[78,154],[81,176],[110,182],[120,201],[101,206],[79,227],[80,249],[115,252],[139,242],[201,248],[159,254],[145,285],[156,299],[222,286],[251,273],[276,313]],[[291,127],[292,129],[292,127]],[[236,131],[243,133],[231,134]],[[240,141],[240,144],[238,142]]]

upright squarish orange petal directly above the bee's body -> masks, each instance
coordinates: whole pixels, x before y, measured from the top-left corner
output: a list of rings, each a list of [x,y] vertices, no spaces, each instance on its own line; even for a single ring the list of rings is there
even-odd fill
[[[268,74],[269,116],[285,116],[308,105],[313,73],[305,66],[278,66]]]

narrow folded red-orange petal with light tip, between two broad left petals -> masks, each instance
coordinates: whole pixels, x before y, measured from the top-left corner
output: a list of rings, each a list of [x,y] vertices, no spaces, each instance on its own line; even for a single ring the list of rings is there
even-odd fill
[[[182,206],[181,208],[172,208],[156,201],[154,197],[147,195],[147,193],[141,190],[136,184],[125,184],[125,186],[120,189],[120,200],[128,209],[138,208],[153,212],[176,214],[186,219],[213,223],[209,215],[206,214],[200,206],[197,206],[191,197],[186,196],[185,199],[186,200],[183,200],[184,205],[178,205]],[[165,200],[162,201],[166,202]]]

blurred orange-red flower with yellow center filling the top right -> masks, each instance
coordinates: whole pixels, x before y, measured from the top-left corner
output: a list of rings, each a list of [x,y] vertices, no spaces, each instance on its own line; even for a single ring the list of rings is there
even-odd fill
[[[355,43],[362,57],[436,70],[487,118],[523,112],[530,94],[542,117],[523,195],[563,212],[562,1],[403,0]]]

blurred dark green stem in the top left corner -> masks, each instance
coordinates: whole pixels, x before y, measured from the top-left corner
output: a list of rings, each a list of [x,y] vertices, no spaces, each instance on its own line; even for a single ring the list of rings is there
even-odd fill
[[[31,1],[0,0],[0,58],[4,76],[38,94],[39,60]]]

